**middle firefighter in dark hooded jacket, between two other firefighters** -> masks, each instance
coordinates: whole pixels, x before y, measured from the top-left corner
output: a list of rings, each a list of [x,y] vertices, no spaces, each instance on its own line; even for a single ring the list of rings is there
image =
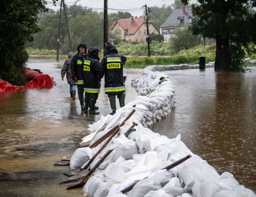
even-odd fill
[[[99,114],[95,108],[98,94],[101,89],[101,64],[98,57],[100,49],[93,46],[88,50],[88,56],[83,64],[83,88],[85,91],[85,112],[89,114]]]

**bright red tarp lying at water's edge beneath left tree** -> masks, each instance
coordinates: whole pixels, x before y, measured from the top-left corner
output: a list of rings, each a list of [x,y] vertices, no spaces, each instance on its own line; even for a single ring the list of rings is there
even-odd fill
[[[25,85],[16,86],[0,79],[0,94],[17,92],[34,88],[52,88],[54,80],[48,74],[37,72],[29,68],[25,69],[26,78],[29,82]]]

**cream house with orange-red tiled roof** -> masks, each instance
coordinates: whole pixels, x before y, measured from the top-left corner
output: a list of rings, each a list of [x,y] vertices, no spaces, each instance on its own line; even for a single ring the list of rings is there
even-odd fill
[[[159,30],[148,20],[148,33],[159,34]],[[147,25],[145,18],[129,17],[114,22],[110,34],[127,42],[146,42]]]

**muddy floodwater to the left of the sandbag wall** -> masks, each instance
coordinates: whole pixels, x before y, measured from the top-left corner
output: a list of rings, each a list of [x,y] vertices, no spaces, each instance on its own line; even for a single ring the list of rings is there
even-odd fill
[[[97,100],[101,115],[81,112],[78,96],[73,101],[67,81],[61,79],[63,62],[29,60],[29,68],[54,77],[51,89],[0,94],[0,196],[83,196],[81,188],[66,190],[59,186],[67,179],[62,173],[69,167],[56,167],[54,163],[72,156],[88,134],[88,125],[111,109],[102,91]],[[124,71],[129,89],[126,102],[137,95],[131,88],[137,71]]]

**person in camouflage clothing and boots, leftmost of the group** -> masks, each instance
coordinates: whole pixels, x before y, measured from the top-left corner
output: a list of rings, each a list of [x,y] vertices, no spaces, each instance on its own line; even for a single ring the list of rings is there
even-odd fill
[[[70,85],[70,97],[72,100],[75,100],[75,92],[77,90],[77,85],[75,85],[75,82],[72,80],[72,73],[71,73],[71,60],[74,56],[73,52],[68,53],[68,58],[65,60],[63,66],[62,66],[62,81],[64,80],[64,76],[66,74],[67,83]]]

